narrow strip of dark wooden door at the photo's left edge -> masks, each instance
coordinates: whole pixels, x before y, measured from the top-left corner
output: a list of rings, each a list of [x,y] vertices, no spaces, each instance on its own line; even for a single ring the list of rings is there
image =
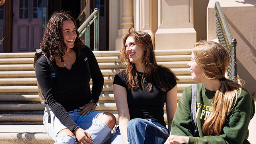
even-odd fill
[[[5,17],[5,4],[0,6],[0,41],[4,38],[4,17]],[[0,45],[0,53],[4,52],[4,39],[3,41],[1,41],[1,45]]]

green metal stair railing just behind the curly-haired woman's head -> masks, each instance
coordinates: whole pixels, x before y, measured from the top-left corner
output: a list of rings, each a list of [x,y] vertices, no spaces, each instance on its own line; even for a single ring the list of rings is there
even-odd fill
[[[84,36],[84,43],[90,47],[90,25],[94,23],[94,51],[98,51],[99,47],[99,14],[98,8],[94,8],[94,11],[84,21],[84,23],[78,28],[79,37]]]

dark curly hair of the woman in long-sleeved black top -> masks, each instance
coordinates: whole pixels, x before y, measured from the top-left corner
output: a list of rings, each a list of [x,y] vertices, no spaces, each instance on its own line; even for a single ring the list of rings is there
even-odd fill
[[[76,27],[76,40],[74,42],[74,47],[72,48],[78,55],[80,55],[80,49],[84,48],[85,45],[82,40],[79,38],[79,32],[77,30],[76,21],[72,16],[70,16],[67,11],[57,11],[51,15],[47,26],[45,28],[45,33],[43,36],[43,41],[40,43],[42,51],[45,53],[45,56],[49,59],[50,63],[55,62],[55,55],[61,59],[63,62],[63,57],[67,52],[67,46],[63,40],[62,34],[62,24],[65,20],[72,20]]]

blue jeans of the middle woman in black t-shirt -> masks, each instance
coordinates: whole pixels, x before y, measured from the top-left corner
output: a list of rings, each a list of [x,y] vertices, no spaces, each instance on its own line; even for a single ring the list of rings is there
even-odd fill
[[[163,144],[168,138],[168,129],[155,120],[135,118],[127,126],[127,138],[130,144]],[[119,128],[111,144],[124,144]]]

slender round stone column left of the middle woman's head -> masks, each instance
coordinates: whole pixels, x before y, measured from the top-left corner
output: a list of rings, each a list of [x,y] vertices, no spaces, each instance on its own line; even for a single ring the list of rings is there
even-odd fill
[[[122,49],[122,39],[129,27],[133,26],[133,0],[122,0],[122,18],[118,36],[116,39],[116,50]]]

